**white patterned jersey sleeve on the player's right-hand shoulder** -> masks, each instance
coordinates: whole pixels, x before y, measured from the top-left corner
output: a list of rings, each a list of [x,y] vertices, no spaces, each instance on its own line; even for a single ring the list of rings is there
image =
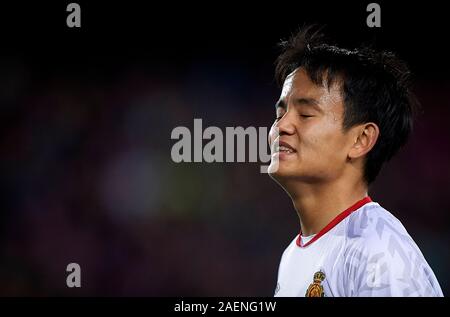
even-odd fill
[[[346,256],[348,296],[443,296],[411,237],[395,230],[361,237]]]

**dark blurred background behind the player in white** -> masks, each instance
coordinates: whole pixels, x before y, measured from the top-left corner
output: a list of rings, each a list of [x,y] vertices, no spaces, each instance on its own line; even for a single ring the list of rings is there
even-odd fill
[[[370,195],[450,292],[450,81],[444,8],[430,1],[78,1],[0,8],[0,295],[272,296],[298,233],[260,163],[173,163],[173,128],[267,126],[277,43],[322,23],[338,43],[405,59],[422,103]],[[66,266],[82,287],[66,286]]]

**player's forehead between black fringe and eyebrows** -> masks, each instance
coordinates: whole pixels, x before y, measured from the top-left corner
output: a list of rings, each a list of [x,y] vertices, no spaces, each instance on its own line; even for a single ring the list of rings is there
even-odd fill
[[[292,98],[312,98],[320,103],[342,102],[341,87],[337,83],[328,87],[327,85],[316,85],[311,81],[303,68],[297,68],[290,73],[283,84],[280,99],[286,103]]]

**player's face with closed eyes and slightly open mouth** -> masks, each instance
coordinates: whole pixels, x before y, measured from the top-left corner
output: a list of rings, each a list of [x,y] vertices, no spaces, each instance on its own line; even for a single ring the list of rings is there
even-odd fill
[[[314,183],[339,178],[354,142],[342,128],[343,113],[339,85],[317,86],[302,68],[292,72],[284,82],[269,133],[270,175],[281,184],[289,179]],[[275,141],[279,149],[274,149]]]

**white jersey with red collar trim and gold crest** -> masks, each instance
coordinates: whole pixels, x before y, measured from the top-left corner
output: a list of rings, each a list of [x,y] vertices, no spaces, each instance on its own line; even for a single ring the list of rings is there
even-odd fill
[[[308,240],[309,239],[309,240]],[[284,251],[275,296],[443,296],[401,222],[365,197]]]

